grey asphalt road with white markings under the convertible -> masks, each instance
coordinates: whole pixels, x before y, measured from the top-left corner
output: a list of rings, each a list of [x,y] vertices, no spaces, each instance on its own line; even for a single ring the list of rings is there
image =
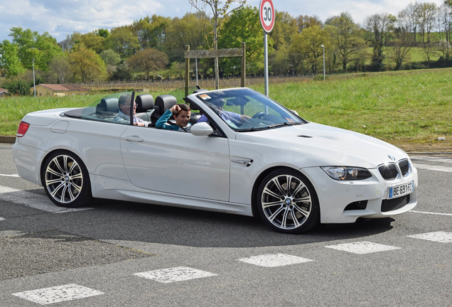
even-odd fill
[[[198,210],[58,208],[0,154],[2,307],[452,306],[452,157],[412,157],[412,212],[282,235]]]

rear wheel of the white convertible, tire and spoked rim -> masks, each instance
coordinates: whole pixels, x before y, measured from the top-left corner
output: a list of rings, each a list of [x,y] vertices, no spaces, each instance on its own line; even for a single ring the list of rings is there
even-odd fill
[[[48,198],[60,207],[81,207],[92,198],[85,165],[68,151],[50,154],[44,161],[41,178]]]

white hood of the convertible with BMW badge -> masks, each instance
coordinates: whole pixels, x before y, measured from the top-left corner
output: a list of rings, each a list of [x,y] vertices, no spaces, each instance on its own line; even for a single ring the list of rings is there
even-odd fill
[[[276,129],[237,133],[237,140],[298,151],[317,166],[376,168],[408,155],[387,142],[354,131],[308,123]],[[394,158],[394,160],[392,158]],[[312,165],[314,166],[314,165]]]

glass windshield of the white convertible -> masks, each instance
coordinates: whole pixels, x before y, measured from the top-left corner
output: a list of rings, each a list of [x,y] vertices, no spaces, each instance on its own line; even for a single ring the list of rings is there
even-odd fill
[[[201,92],[196,97],[239,132],[306,124],[289,109],[250,89]]]

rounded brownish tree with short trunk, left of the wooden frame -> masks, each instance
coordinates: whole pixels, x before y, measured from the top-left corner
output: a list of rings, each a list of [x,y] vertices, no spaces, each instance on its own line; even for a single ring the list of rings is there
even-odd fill
[[[156,49],[143,49],[128,58],[127,63],[135,70],[144,70],[146,80],[149,80],[149,72],[166,68],[168,56]]]

